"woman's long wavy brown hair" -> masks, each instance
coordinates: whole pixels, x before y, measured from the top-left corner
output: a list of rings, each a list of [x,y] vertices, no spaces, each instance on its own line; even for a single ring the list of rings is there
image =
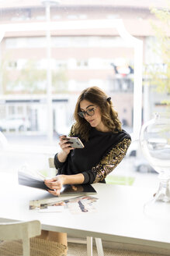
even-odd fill
[[[97,105],[100,108],[102,123],[109,129],[109,131],[118,133],[122,130],[118,114],[113,109],[111,98],[108,98],[106,93],[99,87],[88,87],[82,91],[78,97],[74,112],[74,130],[76,134],[80,134],[82,139],[88,140],[89,130],[91,129],[90,124],[84,118],[78,116],[78,112],[80,111],[80,102],[82,100],[90,101],[92,104]]]

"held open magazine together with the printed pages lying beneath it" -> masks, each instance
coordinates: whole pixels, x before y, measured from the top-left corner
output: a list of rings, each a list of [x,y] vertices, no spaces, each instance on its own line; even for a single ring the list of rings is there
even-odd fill
[[[21,170],[18,172],[19,185],[47,190],[45,180],[40,172],[29,172]],[[84,214],[85,212],[95,212],[95,202],[97,197],[95,189],[90,184],[64,185],[59,197],[44,198],[41,200],[29,201],[29,210],[36,212],[63,212],[68,209],[71,214]]]

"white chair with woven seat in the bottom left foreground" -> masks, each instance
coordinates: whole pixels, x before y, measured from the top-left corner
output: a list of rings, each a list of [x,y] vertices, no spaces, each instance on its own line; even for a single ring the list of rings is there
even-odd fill
[[[67,255],[68,248],[64,244],[43,239],[40,233],[40,222],[36,220],[0,223],[0,256]]]

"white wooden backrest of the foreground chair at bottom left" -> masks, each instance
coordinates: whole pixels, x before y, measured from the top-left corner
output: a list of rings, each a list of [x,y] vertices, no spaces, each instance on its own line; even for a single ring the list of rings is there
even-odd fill
[[[28,222],[1,222],[0,240],[23,240],[23,256],[29,256],[29,238],[39,236],[41,225],[38,220]]]

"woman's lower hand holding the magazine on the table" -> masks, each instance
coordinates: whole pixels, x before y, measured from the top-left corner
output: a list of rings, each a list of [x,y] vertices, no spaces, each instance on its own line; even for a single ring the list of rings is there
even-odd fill
[[[64,183],[64,176],[57,175],[49,180],[44,180],[44,183],[47,187],[50,188],[50,190],[47,190],[50,194],[53,194],[54,196],[59,196]]]

